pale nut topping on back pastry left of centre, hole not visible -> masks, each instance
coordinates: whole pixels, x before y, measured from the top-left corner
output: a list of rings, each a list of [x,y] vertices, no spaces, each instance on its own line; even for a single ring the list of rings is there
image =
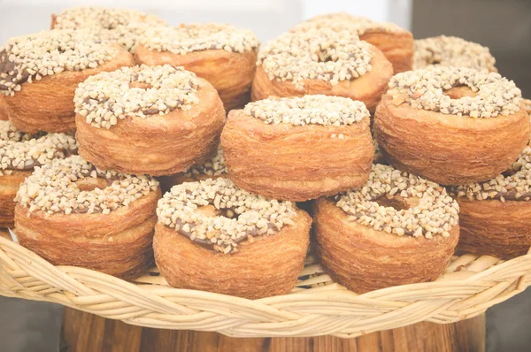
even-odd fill
[[[218,23],[154,27],[142,34],[138,42],[150,50],[170,51],[178,55],[203,50],[242,53],[255,50],[260,45],[251,30]]]

